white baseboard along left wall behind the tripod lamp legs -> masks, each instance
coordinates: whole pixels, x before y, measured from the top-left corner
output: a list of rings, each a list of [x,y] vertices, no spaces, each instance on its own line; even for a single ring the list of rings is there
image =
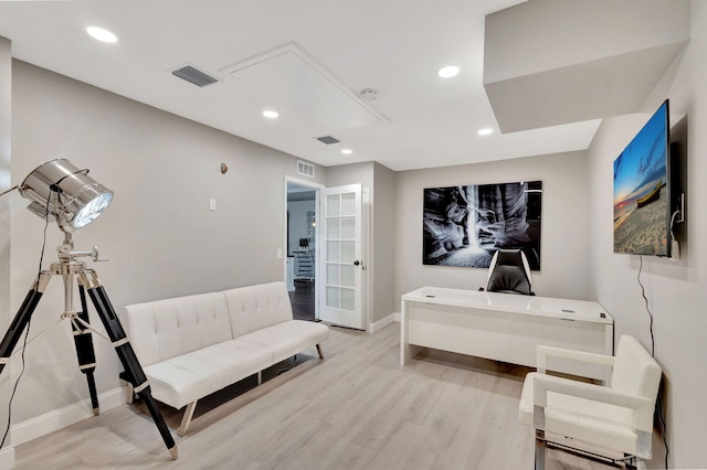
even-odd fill
[[[98,395],[98,404],[102,412],[116,408],[125,404],[125,387],[115,388],[110,392]],[[10,429],[11,446],[19,446],[29,442],[38,437],[45,436],[55,430],[71,426],[86,418],[92,418],[93,409],[91,408],[91,399],[67,405],[63,408],[45,413],[27,421],[18,423]],[[3,457],[0,453],[0,458]],[[12,460],[14,461],[14,451]],[[1,460],[0,460],[1,463]],[[4,467],[2,467],[4,468]]]

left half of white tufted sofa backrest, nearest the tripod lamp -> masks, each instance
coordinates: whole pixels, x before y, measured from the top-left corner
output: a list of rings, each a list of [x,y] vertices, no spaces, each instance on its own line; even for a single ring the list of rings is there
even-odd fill
[[[223,292],[136,303],[118,317],[143,366],[231,339]]]

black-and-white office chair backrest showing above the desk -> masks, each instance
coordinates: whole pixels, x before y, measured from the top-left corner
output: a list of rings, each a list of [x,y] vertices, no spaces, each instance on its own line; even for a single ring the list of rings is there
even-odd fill
[[[532,296],[530,267],[520,249],[498,249],[488,267],[489,292],[521,293]]]

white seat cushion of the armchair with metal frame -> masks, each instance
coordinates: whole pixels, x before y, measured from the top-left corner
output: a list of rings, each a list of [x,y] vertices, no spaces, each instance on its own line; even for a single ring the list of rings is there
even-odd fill
[[[520,396],[520,423],[528,426],[532,426],[532,380],[537,375],[528,374]],[[635,455],[637,436],[630,429],[627,419],[623,407],[548,392],[547,431]]]

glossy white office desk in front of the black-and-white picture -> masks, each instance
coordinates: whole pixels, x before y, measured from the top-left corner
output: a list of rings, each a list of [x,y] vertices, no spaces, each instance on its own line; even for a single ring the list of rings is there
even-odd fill
[[[597,302],[423,287],[402,296],[400,364],[434,348],[536,366],[545,344],[613,354],[614,320]],[[605,378],[597,366],[548,364],[570,374]]]

